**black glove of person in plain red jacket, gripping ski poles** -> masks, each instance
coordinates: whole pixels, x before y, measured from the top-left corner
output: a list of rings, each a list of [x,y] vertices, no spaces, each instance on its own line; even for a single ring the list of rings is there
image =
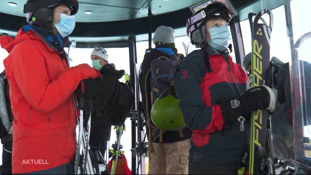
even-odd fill
[[[100,79],[85,79],[82,80],[75,91],[78,97],[78,108],[86,111],[86,115],[89,116],[91,111],[100,113],[98,93],[101,88]]]

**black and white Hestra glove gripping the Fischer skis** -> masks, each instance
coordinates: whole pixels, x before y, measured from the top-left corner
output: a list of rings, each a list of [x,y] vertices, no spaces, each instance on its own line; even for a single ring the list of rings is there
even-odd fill
[[[267,86],[252,87],[244,92],[239,99],[220,99],[220,108],[225,126],[233,125],[240,116],[267,109],[273,112],[276,105],[277,92]]]

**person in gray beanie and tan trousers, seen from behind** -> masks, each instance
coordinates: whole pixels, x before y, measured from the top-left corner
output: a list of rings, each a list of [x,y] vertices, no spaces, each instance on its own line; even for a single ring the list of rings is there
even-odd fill
[[[155,49],[147,49],[141,64],[139,84],[142,93],[141,109],[146,119],[149,147],[148,174],[188,174],[188,156],[192,132],[188,127],[180,130],[160,130],[150,117],[151,103],[151,62],[159,57],[177,55],[174,40],[175,31],[169,26],[160,26],[153,37]],[[184,56],[181,54],[180,60]],[[160,68],[161,69],[161,68]],[[173,94],[172,94],[173,95]]]

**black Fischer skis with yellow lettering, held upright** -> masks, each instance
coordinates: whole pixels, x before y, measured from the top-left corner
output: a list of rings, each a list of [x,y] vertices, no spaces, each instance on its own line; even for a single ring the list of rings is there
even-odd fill
[[[254,13],[248,14],[253,46],[251,59],[252,83],[253,87],[260,85],[272,87],[273,82],[269,77],[269,67],[273,15],[267,9],[255,15]],[[268,18],[264,18],[263,15],[268,16]],[[255,16],[254,21],[253,16]],[[267,23],[267,20],[269,20],[268,23],[270,24]],[[275,174],[271,118],[267,110],[252,112],[248,170],[249,174]]]

